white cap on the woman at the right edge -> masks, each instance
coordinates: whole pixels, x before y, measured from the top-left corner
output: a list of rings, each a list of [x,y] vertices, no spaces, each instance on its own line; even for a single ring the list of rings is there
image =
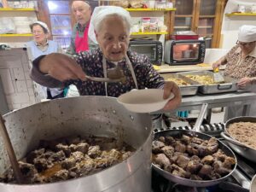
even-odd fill
[[[238,41],[244,43],[256,41],[256,26],[240,26],[238,32]]]

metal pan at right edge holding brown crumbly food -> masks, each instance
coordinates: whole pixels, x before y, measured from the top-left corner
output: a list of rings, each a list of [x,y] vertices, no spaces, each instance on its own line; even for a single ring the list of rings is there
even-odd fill
[[[236,151],[237,154],[241,154],[243,157],[247,158],[247,160],[252,160],[256,163],[256,150],[253,148],[249,148],[242,143],[238,142],[236,139],[230,137],[230,134],[227,131],[227,128],[230,124],[236,123],[236,122],[255,122],[256,123],[256,117],[236,117],[233,119],[227,120],[224,126],[224,132],[221,132],[221,137],[224,137],[225,140],[230,145],[230,148],[232,148],[234,151]]]

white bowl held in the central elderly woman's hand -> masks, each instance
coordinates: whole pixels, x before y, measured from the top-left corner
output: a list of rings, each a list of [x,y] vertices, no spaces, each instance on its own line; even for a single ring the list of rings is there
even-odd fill
[[[136,113],[151,113],[165,107],[166,103],[174,97],[173,94],[168,99],[163,99],[164,90],[145,89],[131,90],[118,97],[118,102],[125,108]]]

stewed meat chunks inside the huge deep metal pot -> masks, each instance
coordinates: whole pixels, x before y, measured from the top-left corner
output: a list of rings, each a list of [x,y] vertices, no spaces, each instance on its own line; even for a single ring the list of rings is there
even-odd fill
[[[65,137],[42,140],[39,147],[19,161],[26,183],[53,183],[101,172],[126,160],[135,151],[110,137]],[[15,183],[12,169],[0,182]]]

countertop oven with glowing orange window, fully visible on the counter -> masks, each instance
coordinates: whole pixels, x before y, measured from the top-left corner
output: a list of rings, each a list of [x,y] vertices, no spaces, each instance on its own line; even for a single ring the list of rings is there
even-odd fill
[[[205,53],[203,40],[169,40],[166,41],[164,60],[169,65],[194,65],[204,61]]]

